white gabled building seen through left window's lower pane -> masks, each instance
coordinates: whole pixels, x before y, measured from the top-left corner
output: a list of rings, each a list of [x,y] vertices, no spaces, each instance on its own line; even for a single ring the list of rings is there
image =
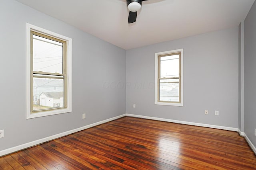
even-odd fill
[[[63,107],[63,94],[63,92],[43,92],[39,96],[39,105],[49,107]]]

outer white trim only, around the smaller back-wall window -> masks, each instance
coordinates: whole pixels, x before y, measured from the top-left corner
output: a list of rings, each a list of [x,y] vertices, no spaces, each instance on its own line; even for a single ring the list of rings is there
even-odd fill
[[[180,103],[158,102],[158,56],[180,52]],[[168,106],[183,106],[183,49],[155,53],[155,104]]]

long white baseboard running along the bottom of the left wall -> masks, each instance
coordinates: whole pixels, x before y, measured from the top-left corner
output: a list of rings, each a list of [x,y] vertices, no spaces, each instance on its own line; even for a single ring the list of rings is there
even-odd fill
[[[115,120],[115,119],[119,119],[119,118],[124,117],[124,116],[126,116],[126,114],[119,115],[119,116],[116,116],[116,117],[112,117],[110,119],[106,119],[106,120],[103,120],[103,121],[92,123],[90,125],[86,125],[86,126],[83,126],[83,127],[77,128],[77,129],[73,129],[73,130],[70,130],[70,131],[66,131],[66,132],[63,132],[63,133],[59,133],[59,134],[56,134],[56,135],[52,135],[50,137],[46,137],[46,138],[43,138],[43,139],[38,139],[36,141],[25,143],[25,144],[22,144],[22,145],[19,145],[19,146],[16,146],[16,147],[8,148],[8,149],[5,149],[5,150],[0,150],[0,156],[6,155],[6,154],[10,154],[12,152],[17,152],[17,151],[22,150],[22,149],[30,148],[30,147],[33,147],[35,145],[39,145],[41,143],[45,143],[47,141],[51,141],[53,139],[64,137],[66,135],[70,135],[72,133],[76,133],[78,131],[82,131],[84,129],[88,129],[90,127],[94,127],[94,126],[100,125],[102,123],[107,123],[109,121],[112,121],[112,120]]]

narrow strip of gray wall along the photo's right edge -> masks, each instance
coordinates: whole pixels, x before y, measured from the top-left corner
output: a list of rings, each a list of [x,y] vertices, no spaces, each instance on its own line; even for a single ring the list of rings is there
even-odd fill
[[[244,132],[256,146],[256,3],[244,20]]]

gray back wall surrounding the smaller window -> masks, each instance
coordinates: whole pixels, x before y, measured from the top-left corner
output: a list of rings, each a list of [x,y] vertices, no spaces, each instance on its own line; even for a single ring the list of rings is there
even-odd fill
[[[155,105],[154,54],[181,48],[184,106]],[[126,113],[238,128],[238,27],[126,51]]]

